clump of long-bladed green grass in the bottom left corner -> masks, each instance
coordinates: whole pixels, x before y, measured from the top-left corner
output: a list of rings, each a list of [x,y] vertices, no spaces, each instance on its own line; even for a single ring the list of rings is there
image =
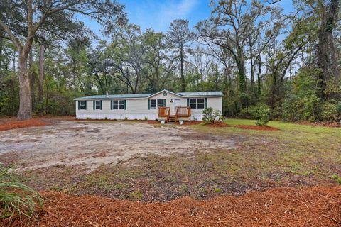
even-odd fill
[[[27,216],[33,218],[36,205],[43,208],[43,199],[30,187],[15,182],[8,168],[0,167],[0,218]]]

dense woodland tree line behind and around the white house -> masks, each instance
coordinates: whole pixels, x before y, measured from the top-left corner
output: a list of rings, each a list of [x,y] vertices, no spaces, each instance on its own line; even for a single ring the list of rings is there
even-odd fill
[[[76,96],[105,92],[220,90],[225,116],[268,106],[273,119],[340,121],[340,0],[293,4],[211,1],[210,18],[161,33],[117,1],[1,1],[0,114],[74,114]]]

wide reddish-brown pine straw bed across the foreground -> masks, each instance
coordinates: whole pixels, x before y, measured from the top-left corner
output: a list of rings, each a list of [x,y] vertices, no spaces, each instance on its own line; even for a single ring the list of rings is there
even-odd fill
[[[207,201],[189,197],[141,203],[43,192],[39,223],[2,226],[340,226],[341,187],[276,188]]]

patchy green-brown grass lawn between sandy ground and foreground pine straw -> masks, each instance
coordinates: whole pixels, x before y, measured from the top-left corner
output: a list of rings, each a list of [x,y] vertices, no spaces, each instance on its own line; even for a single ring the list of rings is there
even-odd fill
[[[241,119],[227,123],[254,125],[254,121]],[[235,140],[238,147],[194,155],[134,157],[118,165],[102,165],[90,173],[55,166],[25,172],[22,179],[36,189],[140,201],[168,201],[179,196],[206,199],[271,187],[337,184],[332,175],[341,175],[340,128],[277,121],[269,126],[280,130],[181,126],[222,135]]]

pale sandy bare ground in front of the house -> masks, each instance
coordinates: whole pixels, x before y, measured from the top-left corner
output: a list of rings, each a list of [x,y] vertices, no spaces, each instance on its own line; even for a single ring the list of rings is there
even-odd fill
[[[16,170],[77,165],[94,170],[136,155],[191,154],[235,148],[231,139],[185,126],[147,123],[56,121],[53,126],[0,132],[0,162]]]

